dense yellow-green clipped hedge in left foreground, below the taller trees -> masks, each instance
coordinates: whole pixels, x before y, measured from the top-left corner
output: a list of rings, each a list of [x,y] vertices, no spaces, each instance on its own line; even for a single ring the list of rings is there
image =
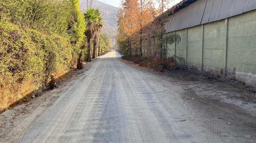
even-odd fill
[[[67,38],[0,22],[0,111],[62,74],[72,63]]]

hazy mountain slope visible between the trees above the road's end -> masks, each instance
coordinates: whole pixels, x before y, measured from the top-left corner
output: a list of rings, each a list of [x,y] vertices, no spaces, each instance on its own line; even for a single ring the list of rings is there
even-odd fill
[[[82,12],[85,12],[87,9],[87,0],[80,0],[79,2],[80,2],[80,10]],[[99,1],[94,1],[92,4],[92,8],[97,8],[100,10],[102,17],[105,19],[102,21],[103,28],[101,32],[108,34],[111,38],[112,46],[115,46],[115,43],[116,43],[115,35],[117,31],[116,13],[118,11],[118,8],[99,2]]]

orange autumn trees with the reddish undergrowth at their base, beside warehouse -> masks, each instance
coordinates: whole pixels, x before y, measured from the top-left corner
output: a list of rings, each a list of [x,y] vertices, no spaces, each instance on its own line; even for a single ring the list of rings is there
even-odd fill
[[[156,71],[177,69],[175,58],[166,56],[167,44],[180,42],[176,34],[166,35],[165,22],[172,1],[126,0],[118,11],[117,44],[122,58]],[[159,6],[156,8],[155,6]],[[155,37],[155,39],[152,39]],[[152,40],[155,40],[152,42]],[[155,43],[155,45],[152,45]]]

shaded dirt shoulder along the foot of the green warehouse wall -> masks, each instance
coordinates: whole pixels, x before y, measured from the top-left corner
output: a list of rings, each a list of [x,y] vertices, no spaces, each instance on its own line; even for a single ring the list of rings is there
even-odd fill
[[[242,108],[256,120],[256,88],[243,85],[241,82],[229,77],[216,77],[209,73],[202,73],[192,68],[181,68],[178,70],[164,70],[155,72],[152,69],[134,64],[120,58],[126,64],[154,72],[155,74],[171,77],[170,80],[189,93],[185,98],[198,99],[208,103],[227,103]]]

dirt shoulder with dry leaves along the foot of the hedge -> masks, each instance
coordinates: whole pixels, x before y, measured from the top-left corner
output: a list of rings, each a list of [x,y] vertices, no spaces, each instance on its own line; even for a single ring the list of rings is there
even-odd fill
[[[13,142],[23,136],[32,126],[34,121],[40,119],[42,113],[53,101],[59,98],[59,93],[65,90],[65,87],[72,86],[72,83],[84,71],[87,71],[98,59],[86,63],[82,70],[73,68],[69,73],[58,78],[57,88],[47,90],[34,99],[27,97],[26,103],[10,108],[0,114],[0,142]]]

